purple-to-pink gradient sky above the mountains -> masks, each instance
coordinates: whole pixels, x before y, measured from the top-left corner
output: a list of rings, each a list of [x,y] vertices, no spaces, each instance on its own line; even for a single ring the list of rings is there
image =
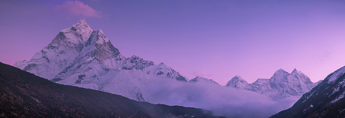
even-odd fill
[[[81,19],[125,57],[221,85],[280,68],[316,82],[345,65],[344,0],[0,0],[0,61],[31,59]]]

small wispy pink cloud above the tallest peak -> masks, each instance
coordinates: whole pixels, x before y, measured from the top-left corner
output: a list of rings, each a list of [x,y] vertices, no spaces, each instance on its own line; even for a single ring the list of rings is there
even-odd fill
[[[81,1],[65,1],[62,4],[55,5],[53,7],[55,10],[64,10],[75,16],[84,16],[84,17],[102,17],[101,11],[97,11],[91,8],[89,5],[84,4]]]

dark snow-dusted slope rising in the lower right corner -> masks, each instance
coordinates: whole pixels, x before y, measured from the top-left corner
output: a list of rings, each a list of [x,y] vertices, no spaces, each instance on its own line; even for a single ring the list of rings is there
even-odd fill
[[[344,118],[345,66],[329,74],[290,109],[270,118]]]

